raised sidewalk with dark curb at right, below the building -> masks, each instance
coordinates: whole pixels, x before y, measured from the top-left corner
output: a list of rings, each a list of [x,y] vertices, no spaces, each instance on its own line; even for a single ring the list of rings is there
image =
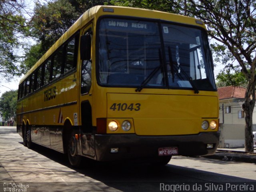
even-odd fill
[[[256,148],[254,148],[254,152],[245,152],[244,148],[218,148],[215,154],[204,157],[256,164]]]

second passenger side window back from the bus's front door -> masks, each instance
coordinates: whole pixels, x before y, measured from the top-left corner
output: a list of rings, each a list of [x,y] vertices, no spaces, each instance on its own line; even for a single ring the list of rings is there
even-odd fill
[[[60,77],[62,61],[63,61],[63,47],[60,48],[54,56],[53,65],[52,65],[52,80]]]

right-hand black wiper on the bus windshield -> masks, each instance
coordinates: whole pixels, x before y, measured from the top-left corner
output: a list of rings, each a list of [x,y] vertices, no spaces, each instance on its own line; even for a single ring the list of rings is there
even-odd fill
[[[196,86],[195,86],[195,84],[194,84],[194,82],[192,80],[192,77],[188,76],[188,74],[181,67],[178,68],[178,66],[174,66],[173,61],[172,61],[172,52],[171,52],[170,46],[168,46],[168,53],[169,53],[169,61],[170,61],[170,67],[171,67],[171,73],[172,73],[172,81],[174,82],[174,70],[175,70],[176,74],[180,77],[180,79],[183,79],[181,77],[181,75],[179,74],[179,69],[180,69],[182,74],[184,74],[186,79],[190,82],[192,88],[194,89],[194,93],[198,94],[199,91],[196,88]]]

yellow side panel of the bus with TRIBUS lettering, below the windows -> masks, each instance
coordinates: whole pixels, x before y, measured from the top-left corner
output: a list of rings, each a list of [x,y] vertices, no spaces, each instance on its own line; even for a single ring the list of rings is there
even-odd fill
[[[76,72],[74,72],[58,82],[46,86],[42,90],[24,98],[17,104],[17,114],[22,112],[28,113],[17,116],[18,124],[29,122],[30,125],[63,125],[65,120],[69,119],[72,125],[74,125],[74,113],[78,113],[79,110],[77,104],[59,108],[53,107],[70,102],[77,103],[77,85]],[[45,91],[52,90],[54,87],[56,88],[55,98],[53,96],[50,98],[50,95],[48,95],[48,100],[46,100],[47,95]]]

